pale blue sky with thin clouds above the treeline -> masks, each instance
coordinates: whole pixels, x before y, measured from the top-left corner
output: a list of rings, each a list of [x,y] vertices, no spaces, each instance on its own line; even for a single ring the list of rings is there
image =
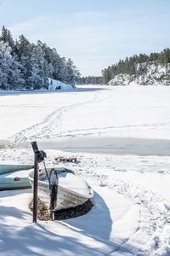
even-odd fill
[[[71,57],[82,75],[170,47],[170,0],[1,0],[0,26]]]

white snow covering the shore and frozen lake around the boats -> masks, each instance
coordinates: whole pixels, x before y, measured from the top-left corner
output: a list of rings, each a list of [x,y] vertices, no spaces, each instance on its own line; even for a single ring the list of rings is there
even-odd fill
[[[37,140],[49,167],[77,156],[64,165],[95,194],[82,217],[32,224],[31,189],[0,191],[0,255],[170,255],[169,98],[138,85],[1,93],[1,162],[31,164]]]

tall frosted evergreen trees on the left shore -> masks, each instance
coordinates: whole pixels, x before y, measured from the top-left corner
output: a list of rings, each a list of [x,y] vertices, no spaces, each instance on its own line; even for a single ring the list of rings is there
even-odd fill
[[[38,41],[31,44],[20,35],[14,42],[11,33],[3,26],[0,36],[0,88],[48,88],[48,78],[74,84],[79,77],[71,59],[60,57],[56,49]]]

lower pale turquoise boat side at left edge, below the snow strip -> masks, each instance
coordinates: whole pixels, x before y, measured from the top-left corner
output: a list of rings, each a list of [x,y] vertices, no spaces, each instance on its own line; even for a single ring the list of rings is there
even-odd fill
[[[0,177],[0,190],[29,188],[31,188],[31,184],[27,177]]]

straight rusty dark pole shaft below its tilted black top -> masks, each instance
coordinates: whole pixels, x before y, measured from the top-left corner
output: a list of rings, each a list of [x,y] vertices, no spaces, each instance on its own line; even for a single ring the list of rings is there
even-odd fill
[[[37,154],[34,154],[34,188],[33,188],[33,223],[37,223],[37,178],[38,162]]]

